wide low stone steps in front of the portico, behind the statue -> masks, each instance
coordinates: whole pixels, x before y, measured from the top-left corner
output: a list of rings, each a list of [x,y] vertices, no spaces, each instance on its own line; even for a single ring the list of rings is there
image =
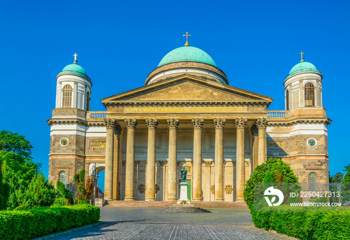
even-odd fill
[[[108,200],[103,206],[118,207],[169,207],[176,201],[120,201]],[[191,205],[200,208],[247,208],[245,201],[191,201]]]

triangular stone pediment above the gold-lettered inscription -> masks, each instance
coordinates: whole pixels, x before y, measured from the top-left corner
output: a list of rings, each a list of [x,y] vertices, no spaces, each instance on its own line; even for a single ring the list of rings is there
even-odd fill
[[[271,97],[183,74],[101,99],[120,101],[272,101]]]

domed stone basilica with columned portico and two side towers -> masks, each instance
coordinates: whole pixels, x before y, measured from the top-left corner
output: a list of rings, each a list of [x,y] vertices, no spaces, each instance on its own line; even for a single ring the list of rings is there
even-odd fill
[[[269,96],[229,85],[214,60],[186,41],[144,86],[102,98],[105,111],[90,110],[93,79],[74,54],[56,76],[48,179],[73,190],[73,175],[82,168],[90,175],[95,164],[105,170],[98,180],[106,200],[175,201],[184,166],[190,201],[240,201],[256,165],[278,157],[312,190],[328,182],[331,120],[322,74],[302,54],[284,78],[283,110],[267,110]]]

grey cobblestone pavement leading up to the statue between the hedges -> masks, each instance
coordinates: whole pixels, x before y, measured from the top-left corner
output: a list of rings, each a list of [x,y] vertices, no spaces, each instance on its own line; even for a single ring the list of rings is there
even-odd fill
[[[209,209],[212,213],[163,213],[161,209],[102,207],[100,220],[105,223],[50,239],[286,239],[254,227],[248,209]]]

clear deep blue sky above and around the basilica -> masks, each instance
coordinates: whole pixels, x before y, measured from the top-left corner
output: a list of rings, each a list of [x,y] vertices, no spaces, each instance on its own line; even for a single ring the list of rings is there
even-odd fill
[[[350,163],[347,110],[348,1],[2,1],[0,129],[25,135],[47,175],[55,76],[73,54],[92,80],[91,110],[103,97],[142,86],[170,50],[207,52],[230,85],[273,97],[304,52],[323,74],[329,171]]]

